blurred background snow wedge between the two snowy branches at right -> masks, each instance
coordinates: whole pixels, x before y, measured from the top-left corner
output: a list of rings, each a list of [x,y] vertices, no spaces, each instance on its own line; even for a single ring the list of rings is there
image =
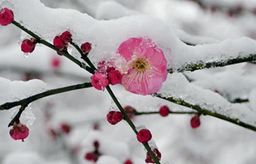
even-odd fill
[[[186,74],[193,80],[193,84],[217,91],[228,101],[233,102],[237,98],[248,98],[252,88],[255,87],[256,79],[253,76],[255,73],[250,72],[246,67],[255,68],[252,63],[242,63],[219,69],[187,72]]]

